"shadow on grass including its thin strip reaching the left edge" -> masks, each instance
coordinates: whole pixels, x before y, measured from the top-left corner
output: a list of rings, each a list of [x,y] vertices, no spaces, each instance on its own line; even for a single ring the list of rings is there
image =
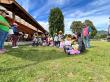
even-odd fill
[[[60,52],[58,49],[51,48],[51,47],[28,48],[26,46],[21,46],[18,49],[11,49],[9,47],[8,47],[8,49],[9,49],[9,52],[7,53],[8,55],[12,55],[12,56],[15,56],[18,58],[22,58],[23,60],[29,60],[29,61],[34,61],[34,62],[31,64],[20,65],[20,66],[16,66],[16,67],[8,67],[8,68],[0,67],[0,72],[24,69],[26,67],[36,65],[43,61],[55,60],[55,59],[68,57],[67,54],[65,54],[64,52]],[[81,55],[84,55],[87,52],[88,52],[88,50],[81,53]],[[70,57],[72,57],[72,55]]]

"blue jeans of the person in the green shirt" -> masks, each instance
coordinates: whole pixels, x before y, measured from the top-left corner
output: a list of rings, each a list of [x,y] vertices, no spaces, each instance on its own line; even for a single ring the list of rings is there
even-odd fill
[[[2,31],[0,29],[0,49],[4,48],[4,42],[7,38],[8,32]]]

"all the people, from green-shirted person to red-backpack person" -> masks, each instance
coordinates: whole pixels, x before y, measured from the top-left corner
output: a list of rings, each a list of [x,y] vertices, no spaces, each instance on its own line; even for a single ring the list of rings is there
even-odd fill
[[[12,48],[18,48],[17,42],[19,40],[19,32],[17,30],[17,23],[13,22],[12,25],[5,19],[7,11],[0,6],[0,54],[5,53],[7,50],[4,48],[4,42],[8,36],[9,29]],[[85,24],[81,33],[65,36],[62,31],[55,33],[53,36],[45,34],[39,36],[38,33],[33,35],[32,46],[55,46],[64,49],[67,54],[80,54],[86,48],[90,48],[90,35],[92,33],[91,27]]]

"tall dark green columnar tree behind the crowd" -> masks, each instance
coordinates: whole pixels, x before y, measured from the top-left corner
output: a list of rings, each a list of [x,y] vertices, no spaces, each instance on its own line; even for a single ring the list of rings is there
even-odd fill
[[[59,8],[53,8],[48,18],[49,32],[53,36],[54,33],[62,31],[64,33],[64,16]]]

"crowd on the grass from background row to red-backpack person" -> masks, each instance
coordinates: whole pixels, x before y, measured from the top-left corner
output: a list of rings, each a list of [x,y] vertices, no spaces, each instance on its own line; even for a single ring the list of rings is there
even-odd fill
[[[90,48],[91,32],[91,27],[85,24],[81,33],[75,33],[73,35],[63,35],[62,31],[55,33],[53,37],[48,34],[38,36],[35,33],[32,46],[55,46],[64,49],[64,52],[69,55],[80,54],[86,48]]]

